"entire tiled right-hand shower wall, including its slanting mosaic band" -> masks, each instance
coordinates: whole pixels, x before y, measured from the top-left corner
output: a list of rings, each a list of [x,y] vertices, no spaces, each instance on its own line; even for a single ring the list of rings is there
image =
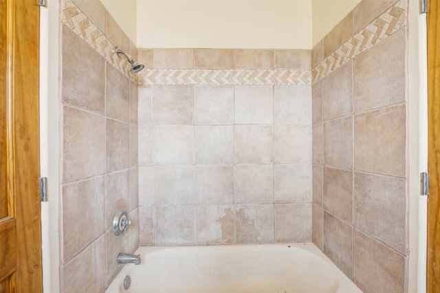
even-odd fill
[[[362,1],[312,51],[313,241],[364,292],[406,291],[407,5]]]

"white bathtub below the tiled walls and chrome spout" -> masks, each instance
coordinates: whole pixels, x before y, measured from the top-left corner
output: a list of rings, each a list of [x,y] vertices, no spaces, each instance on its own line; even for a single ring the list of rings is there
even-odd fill
[[[141,265],[125,265],[107,293],[362,292],[312,243],[144,246],[136,254]]]

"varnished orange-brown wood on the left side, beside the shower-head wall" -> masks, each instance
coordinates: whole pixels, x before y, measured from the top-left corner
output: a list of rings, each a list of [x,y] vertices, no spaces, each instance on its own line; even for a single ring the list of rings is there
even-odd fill
[[[15,222],[17,264],[7,292],[43,292],[39,199],[39,31],[38,0],[0,0],[7,6],[5,65],[8,101],[9,216]],[[9,239],[10,240],[10,239]],[[12,241],[9,241],[12,242]]]

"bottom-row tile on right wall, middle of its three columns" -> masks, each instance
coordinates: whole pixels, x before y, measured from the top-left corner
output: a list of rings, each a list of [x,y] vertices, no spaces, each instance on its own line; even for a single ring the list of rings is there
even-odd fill
[[[353,227],[324,212],[324,253],[349,278],[353,276]]]

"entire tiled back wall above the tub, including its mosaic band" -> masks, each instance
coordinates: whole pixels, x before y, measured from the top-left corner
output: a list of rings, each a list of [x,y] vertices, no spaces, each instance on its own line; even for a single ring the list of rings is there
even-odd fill
[[[138,53],[140,244],[311,241],[311,51]]]

